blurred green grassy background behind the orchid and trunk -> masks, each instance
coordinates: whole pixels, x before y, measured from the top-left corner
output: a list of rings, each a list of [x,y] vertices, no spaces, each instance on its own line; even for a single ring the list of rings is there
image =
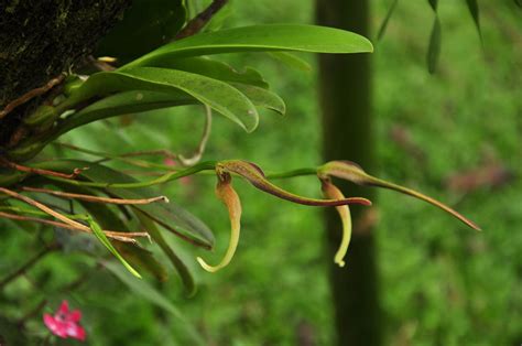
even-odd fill
[[[373,32],[391,2],[372,1]],[[425,64],[433,19],[427,1],[400,1],[384,37],[376,43],[378,169],[371,173],[444,201],[483,229],[475,233],[425,203],[379,192],[373,208],[379,214],[385,345],[522,342],[522,10],[512,1],[479,4],[482,44],[465,1],[441,1],[443,45],[435,75]],[[309,23],[314,18],[313,2],[303,0],[233,1],[229,15],[226,26]],[[287,116],[263,113],[251,134],[215,117],[205,160],[246,159],[267,171],[320,163],[315,60],[302,57],[312,64],[311,72],[268,54],[222,57],[238,68],[262,72],[285,99]],[[156,111],[90,125],[62,141],[115,153],[160,148],[188,153],[203,120],[198,107]],[[333,258],[325,255],[322,210],[275,199],[238,181],[243,204],[239,249],[226,270],[210,274],[198,268],[195,255],[217,261],[229,237],[228,216],[214,196],[214,177],[194,176],[164,186],[171,199],[216,230],[217,248],[215,253],[195,253],[170,239],[194,267],[199,291],[185,298],[175,273],[155,285],[209,345],[333,344],[335,302],[327,277]],[[319,195],[314,177],[281,184]],[[36,244],[13,227],[1,228],[0,270],[6,272],[23,261],[18,249]],[[6,301],[29,310],[37,301],[23,298],[34,290],[31,280],[45,279],[48,284],[39,294],[57,305],[64,295],[53,286],[88,264],[79,255],[52,255],[10,285]],[[178,318],[134,296],[107,273],[87,277],[65,298],[83,310],[89,345],[191,344]]]

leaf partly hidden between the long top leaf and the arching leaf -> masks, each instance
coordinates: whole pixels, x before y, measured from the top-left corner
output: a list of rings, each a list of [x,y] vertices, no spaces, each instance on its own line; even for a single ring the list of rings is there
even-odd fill
[[[247,67],[244,72],[237,72],[230,65],[208,57],[172,60],[166,56],[164,60],[154,60],[153,64],[148,66],[181,69],[224,82],[251,84],[262,88],[269,87],[267,80],[264,80],[261,74],[253,68]]]

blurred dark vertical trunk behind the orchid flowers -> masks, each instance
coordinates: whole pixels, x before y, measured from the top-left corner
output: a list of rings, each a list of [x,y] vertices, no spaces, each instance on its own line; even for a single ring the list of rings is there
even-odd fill
[[[317,22],[369,36],[369,0],[317,0]],[[323,111],[324,158],[350,160],[371,171],[370,54],[320,55],[319,93]],[[372,197],[368,190],[336,182],[347,195]],[[371,227],[362,225],[362,209],[352,207],[354,235],[346,267],[331,264],[331,293],[338,345],[381,344],[378,272]],[[326,212],[328,256],[340,242],[339,219]]]

